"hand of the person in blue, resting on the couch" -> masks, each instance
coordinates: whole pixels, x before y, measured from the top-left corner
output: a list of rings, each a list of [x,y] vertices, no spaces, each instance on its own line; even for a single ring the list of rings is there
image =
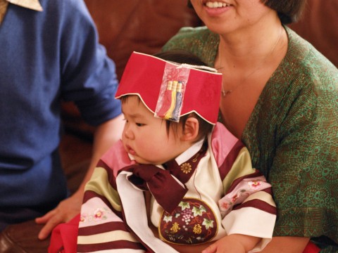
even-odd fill
[[[75,215],[80,213],[81,205],[82,194],[77,191],[74,195],[61,201],[55,209],[35,219],[36,223],[45,224],[39,232],[38,238],[40,240],[46,239],[53,228],[59,223],[68,222],[73,219]]]

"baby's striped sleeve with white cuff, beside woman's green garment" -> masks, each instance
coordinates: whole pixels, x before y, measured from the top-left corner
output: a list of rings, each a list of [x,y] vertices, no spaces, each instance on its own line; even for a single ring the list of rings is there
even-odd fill
[[[277,209],[271,185],[260,171],[253,169],[249,151],[244,145],[234,145],[228,157],[230,169],[223,179],[225,196],[218,202],[227,234],[244,234],[263,238],[251,252],[260,251],[273,236]],[[229,167],[229,161],[224,164]],[[220,168],[222,169],[222,168]]]

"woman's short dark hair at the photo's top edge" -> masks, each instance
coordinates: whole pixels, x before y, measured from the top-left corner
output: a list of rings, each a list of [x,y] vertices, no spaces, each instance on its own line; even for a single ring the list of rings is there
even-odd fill
[[[261,0],[261,2],[277,11],[280,21],[285,25],[298,21],[306,5],[306,0]],[[193,8],[190,0],[188,6]]]

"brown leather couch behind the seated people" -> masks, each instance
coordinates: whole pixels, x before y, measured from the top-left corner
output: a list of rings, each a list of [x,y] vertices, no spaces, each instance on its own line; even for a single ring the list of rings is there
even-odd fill
[[[156,53],[183,26],[202,25],[185,0],[85,0],[99,31],[101,44],[113,58],[121,77],[132,51]],[[338,66],[337,0],[309,0],[303,19],[291,25]],[[65,135],[60,145],[68,186],[82,181],[92,148],[92,127],[80,119],[72,103],[63,104]],[[8,226],[0,235],[0,253],[47,251],[49,240],[39,241],[42,228],[34,221]]]

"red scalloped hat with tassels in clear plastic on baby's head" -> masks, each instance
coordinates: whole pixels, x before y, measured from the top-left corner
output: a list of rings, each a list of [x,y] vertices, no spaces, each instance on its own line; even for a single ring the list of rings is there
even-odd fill
[[[137,95],[157,117],[173,120],[196,112],[207,122],[215,124],[220,106],[222,74],[195,67],[201,66],[173,63],[133,52],[115,98]],[[172,91],[176,91],[175,94]],[[176,102],[173,103],[173,100]],[[168,113],[170,110],[171,114]]]

